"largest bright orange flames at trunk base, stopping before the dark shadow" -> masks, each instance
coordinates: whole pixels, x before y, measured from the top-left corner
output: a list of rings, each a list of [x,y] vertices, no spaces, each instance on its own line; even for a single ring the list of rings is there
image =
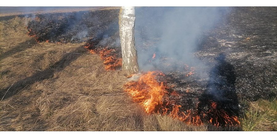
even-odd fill
[[[137,82],[131,81],[125,84],[124,90],[128,92],[135,102],[139,102],[145,109],[146,113],[159,113],[159,109],[163,110],[163,115],[166,115],[169,108],[163,105],[170,105],[171,101],[165,99],[163,104],[162,99],[168,91],[163,82],[157,81],[157,75],[164,75],[161,71],[151,71],[142,75]],[[180,96],[176,91],[171,93],[172,96]],[[173,101],[174,102],[174,101]],[[187,110],[187,114],[179,111],[181,105],[173,105],[169,116],[177,118],[187,124],[203,125],[200,116],[192,117],[191,111]]]

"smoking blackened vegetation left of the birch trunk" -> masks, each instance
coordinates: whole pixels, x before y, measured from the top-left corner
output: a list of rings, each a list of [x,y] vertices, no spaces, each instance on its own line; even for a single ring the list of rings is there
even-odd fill
[[[109,37],[118,31],[119,10],[46,13],[35,15],[27,29],[37,41],[80,43],[92,38]],[[109,34],[108,34],[109,33]]]

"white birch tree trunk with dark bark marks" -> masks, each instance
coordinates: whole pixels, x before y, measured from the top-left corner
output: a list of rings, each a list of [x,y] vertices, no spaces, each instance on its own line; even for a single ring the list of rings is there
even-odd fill
[[[134,7],[121,7],[118,18],[122,50],[122,70],[133,74],[139,71],[137,50],[134,42]]]

